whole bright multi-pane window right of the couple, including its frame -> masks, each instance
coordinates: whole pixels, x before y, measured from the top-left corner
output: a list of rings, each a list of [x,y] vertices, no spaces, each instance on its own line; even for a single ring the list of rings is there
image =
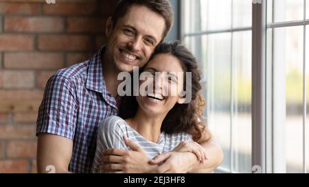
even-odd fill
[[[206,122],[225,153],[217,172],[251,173],[258,158],[264,172],[306,173],[309,0],[257,2],[181,1],[181,40],[200,63]]]

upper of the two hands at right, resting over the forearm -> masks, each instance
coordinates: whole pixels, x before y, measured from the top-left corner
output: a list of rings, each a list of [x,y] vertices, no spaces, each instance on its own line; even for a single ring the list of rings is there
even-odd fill
[[[181,142],[173,151],[194,153],[202,164],[205,164],[205,160],[208,160],[206,149],[197,142]]]

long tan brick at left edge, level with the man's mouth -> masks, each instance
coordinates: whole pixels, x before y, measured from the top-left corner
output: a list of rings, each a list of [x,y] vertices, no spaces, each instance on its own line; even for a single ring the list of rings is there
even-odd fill
[[[4,68],[58,69],[64,67],[62,53],[5,53]]]

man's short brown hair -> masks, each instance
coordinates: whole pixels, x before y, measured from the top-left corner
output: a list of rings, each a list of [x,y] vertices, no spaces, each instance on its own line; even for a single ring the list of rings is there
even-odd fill
[[[166,35],[168,35],[168,32],[170,32],[170,29],[173,25],[174,21],[174,12],[172,9],[172,5],[170,4],[170,1],[168,0],[119,0],[115,12],[113,13],[112,20],[113,25],[117,24],[117,21],[119,18],[122,18],[123,16],[128,13],[128,10],[133,5],[143,5],[149,8],[150,10],[157,12],[157,14],[160,14],[163,16],[165,20],[165,29],[163,32],[163,38],[165,38]]]

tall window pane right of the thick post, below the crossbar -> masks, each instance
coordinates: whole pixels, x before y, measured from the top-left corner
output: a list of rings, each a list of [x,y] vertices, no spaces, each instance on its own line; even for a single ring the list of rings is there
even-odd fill
[[[274,60],[281,63],[283,60],[286,65],[287,173],[302,172],[303,30],[302,26],[274,29],[274,35],[278,38],[274,47],[276,53],[281,55],[280,59]]]

